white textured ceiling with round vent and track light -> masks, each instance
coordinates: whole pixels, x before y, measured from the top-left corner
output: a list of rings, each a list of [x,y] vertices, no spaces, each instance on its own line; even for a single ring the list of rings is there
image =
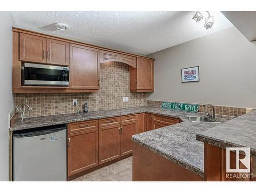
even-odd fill
[[[232,26],[221,12],[210,13],[215,24],[208,30],[191,11],[15,11],[13,18],[15,26],[37,31],[65,23],[67,31],[49,33],[146,55]]]

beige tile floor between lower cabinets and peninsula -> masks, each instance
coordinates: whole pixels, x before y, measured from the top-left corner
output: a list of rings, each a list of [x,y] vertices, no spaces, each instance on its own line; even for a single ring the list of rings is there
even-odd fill
[[[72,181],[132,181],[132,160],[128,157]]]

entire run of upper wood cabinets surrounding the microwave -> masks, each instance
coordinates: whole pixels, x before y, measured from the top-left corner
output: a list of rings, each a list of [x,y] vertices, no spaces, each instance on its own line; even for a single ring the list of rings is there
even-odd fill
[[[117,61],[130,66],[130,91],[154,91],[154,60],[117,50],[13,27],[13,93],[92,93],[99,90],[99,63]],[[23,62],[70,66],[69,87],[23,86]],[[139,66],[139,68],[137,68]]]

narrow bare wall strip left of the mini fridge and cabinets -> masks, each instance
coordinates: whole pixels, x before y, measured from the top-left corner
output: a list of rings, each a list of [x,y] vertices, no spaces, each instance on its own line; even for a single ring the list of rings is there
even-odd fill
[[[8,181],[8,114],[13,110],[12,95],[12,12],[0,11],[0,181]]]

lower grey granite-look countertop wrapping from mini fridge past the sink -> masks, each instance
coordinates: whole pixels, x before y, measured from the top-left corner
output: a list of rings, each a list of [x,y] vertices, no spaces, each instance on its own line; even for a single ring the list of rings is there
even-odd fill
[[[206,113],[183,112],[150,106],[138,106],[135,108],[103,110],[89,113],[31,117],[25,118],[24,121],[17,119],[14,126],[10,128],[9,131],[145,112],[169,117],[178,117],[183,122],[134,135],[132,140],[166,159],[185,167],[191,172],[204,177],[203,142],[197,141],[196,135],[221,123],[195,123],[190,122],[185,117],[193,115],[205,116]],[[234,117],[230,116],[217,116],[217,121],[226,122],[233,118]]]

